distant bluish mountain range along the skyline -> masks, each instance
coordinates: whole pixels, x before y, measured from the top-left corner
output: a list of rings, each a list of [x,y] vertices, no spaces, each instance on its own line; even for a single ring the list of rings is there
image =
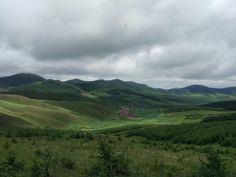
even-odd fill
[[[36,82],[49,81],[39,75],[31,73],[20,73],[12,76],[0,77],[0,88],[9,88],[9,87],[19,87],[24,85],[33,84]],[[53,80],[50,80],[53,81]],[[59,82],[59,81],[55,81]],[[136,82],[126,82],[119,79],[114,80],[96,80],[96,81],[83,81],[80,79],[68,80],[61,82],[65,84],[70,84],[78,86],[86,91],[93,91],[97,89],[149,89],[152,91],[159,91],[165,93],[176,93],[176,94],[236,94],[236,87],[227,87],[227,88],[210,88],[203,85],[190,85],[183,88],[174,88],[174,89],[155,89],[151,88],[145,84],[139,84]]]

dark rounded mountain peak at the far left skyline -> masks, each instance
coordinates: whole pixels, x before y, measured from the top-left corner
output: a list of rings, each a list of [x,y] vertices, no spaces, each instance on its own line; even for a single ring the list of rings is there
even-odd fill
[[[41,76],[29,73],[20,73],[12,76],[1,77],[0,78],[0,87],[17,87],[22,85],[31,84],[34,82],[44,81],[45,79]]]

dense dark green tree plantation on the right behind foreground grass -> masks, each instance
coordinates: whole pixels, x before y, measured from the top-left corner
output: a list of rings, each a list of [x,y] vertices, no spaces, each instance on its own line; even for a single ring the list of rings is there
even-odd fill
[[[130,129],[126,135],[141,136],[148,140],[172,143],[206,145],[220,144],[236,147],[236,122],[211,122],[199,124],[164,125]]]

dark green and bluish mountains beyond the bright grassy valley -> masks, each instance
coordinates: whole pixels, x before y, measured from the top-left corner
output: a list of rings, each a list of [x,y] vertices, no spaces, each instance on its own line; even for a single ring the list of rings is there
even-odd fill
[[[132,81],[46,80],[34,74],[16,74],[0,78],[0,93],[22,95],[29,98],[54,101],[99,101],[113,107],[173,107],[201,105],[236,98],[236,87],[216,89],[191,85],[179,89],[155,89]],[[5,89],[4,89],[5,88]],[[7,89],[6,89],[7,88]]]

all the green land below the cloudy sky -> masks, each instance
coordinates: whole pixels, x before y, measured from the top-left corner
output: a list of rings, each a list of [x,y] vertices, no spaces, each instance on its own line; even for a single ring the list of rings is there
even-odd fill
[[[235,177],[234,100],[235,87],[0,78],[0,177]]]

